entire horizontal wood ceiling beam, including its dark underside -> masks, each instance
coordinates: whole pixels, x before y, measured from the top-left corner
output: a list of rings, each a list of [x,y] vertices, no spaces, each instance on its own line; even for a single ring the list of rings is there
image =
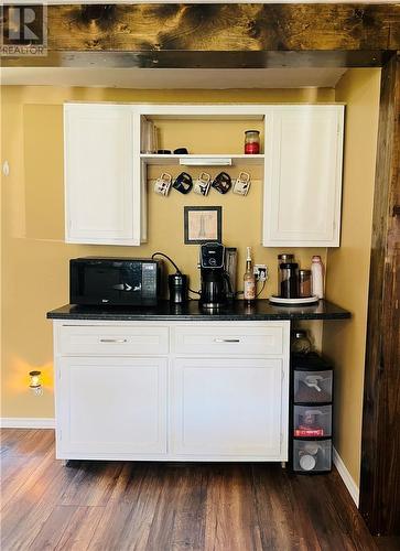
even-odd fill
[[[47,29],[48,55],[3,65],[374,67],[400,48],[400,4],[48,6]]]

